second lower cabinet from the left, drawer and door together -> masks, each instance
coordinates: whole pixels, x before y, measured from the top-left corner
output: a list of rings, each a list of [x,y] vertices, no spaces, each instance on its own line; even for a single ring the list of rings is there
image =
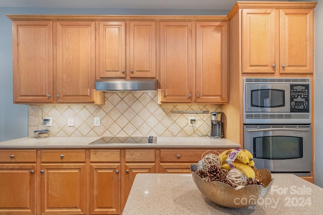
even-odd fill
[[[85,150],[42,150],[41,214],[86,214]]]

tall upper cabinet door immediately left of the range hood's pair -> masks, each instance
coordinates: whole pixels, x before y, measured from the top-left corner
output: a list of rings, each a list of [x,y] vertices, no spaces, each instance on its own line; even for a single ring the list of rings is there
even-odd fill
[[[57,102],[94,102],[95,22],[57,22]]]

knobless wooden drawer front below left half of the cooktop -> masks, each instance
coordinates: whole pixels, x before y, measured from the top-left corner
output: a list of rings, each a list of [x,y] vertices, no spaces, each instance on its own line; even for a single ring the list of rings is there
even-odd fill
[[[91,150],[91,162],[120,162],[120,150]]]

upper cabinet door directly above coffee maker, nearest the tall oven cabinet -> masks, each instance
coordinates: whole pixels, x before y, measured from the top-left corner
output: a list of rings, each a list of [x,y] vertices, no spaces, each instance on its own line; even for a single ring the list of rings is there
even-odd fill
[[[228,25],[196,23],[196,102],[228,102]]]

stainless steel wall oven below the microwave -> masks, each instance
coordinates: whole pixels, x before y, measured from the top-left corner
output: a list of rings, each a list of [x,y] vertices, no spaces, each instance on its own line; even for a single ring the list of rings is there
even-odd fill
[[[310,125],[245,125],[244,148],[258,169],[310,176],[312,170]]]

